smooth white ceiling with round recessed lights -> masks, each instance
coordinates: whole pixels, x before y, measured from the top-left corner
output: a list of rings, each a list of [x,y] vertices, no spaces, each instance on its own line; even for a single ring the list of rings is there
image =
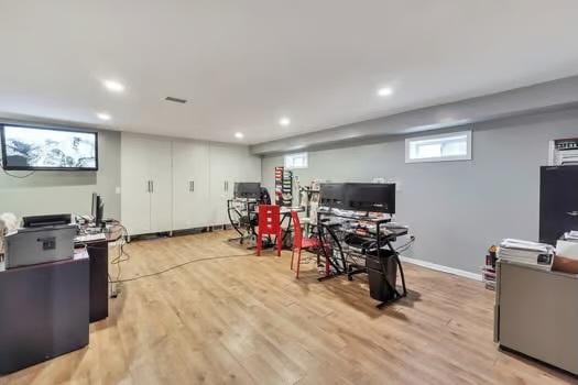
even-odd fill
[[[0,0],[0,114],[259,143],[577,75],[577,14],[576,0]]]

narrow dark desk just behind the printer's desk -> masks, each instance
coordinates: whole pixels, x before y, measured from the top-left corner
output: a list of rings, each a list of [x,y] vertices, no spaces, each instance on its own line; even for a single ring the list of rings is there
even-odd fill
[[[122,226],[113,224],[105,239],[75,243],[75,248],[86,246],[90,257],[90,322],[108,317],[108,244],[121,239],[122,233]]]

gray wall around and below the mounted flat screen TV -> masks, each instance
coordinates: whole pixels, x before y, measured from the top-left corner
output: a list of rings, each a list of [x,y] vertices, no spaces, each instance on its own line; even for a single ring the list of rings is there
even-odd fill
[[[120,133],[99,131],[98,151],[98,172],[36,172],[15,178],[0,169],[0,213],[90,213],[91,194],[96,191],[105,200],[105,216],[120,218],[120,195],[116,194],[120,186]]]

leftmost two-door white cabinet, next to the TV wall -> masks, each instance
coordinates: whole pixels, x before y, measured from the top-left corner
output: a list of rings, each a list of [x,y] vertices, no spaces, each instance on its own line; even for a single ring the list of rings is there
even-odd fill
[[[121,135],[121,218],[129,234],[172,230],[171,142]]]

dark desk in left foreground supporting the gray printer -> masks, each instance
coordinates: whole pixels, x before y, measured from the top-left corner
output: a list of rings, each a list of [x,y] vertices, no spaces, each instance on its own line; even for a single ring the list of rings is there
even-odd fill
[[[0,373],[86,346],[88,297],[86,257],[0,272]]]

